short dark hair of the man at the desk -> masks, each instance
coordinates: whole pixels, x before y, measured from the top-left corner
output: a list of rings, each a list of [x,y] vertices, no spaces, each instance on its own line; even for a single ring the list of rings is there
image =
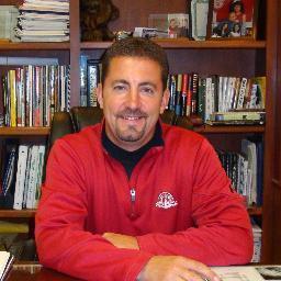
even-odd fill
[[[121,41],[116,41],[111,45],[111,47],[106,49],[102,56],[102,83],[108,76],[111,60],[114,57],[121,56],[143,57],[159,64],[161,68],[162,86],[164,89],[166,88],[169,74],[169,64],[165,50],[150,40],[139,37],[127,37]]]

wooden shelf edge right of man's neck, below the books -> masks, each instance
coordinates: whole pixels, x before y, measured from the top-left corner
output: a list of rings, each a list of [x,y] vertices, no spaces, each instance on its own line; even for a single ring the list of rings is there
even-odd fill
[[[265,126],[211,126],[211,125],[202,125],[199,127],[194,127],[194,131],[200,134],[236,134],[236,133],[265,133]]]

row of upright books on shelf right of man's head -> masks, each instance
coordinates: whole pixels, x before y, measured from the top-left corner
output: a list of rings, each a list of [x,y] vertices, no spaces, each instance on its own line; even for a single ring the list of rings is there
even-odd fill
[[[260,112],[265,111],[266,106],[266,77],[177,74],[169,75],[168,88],[169,110],[175,111],[177,115],[196,114],[204,123],[212,121],[212,114],[215,112],[224,116],[225,112],[232,111]],[[236,115],[238,116],[238,113]],[[260,114],[258,117],[263,121],[265,116]]]

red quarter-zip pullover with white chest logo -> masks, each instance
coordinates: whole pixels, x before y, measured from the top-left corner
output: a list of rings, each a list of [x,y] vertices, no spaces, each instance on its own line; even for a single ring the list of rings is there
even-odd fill
[[[240,195],[201,135],[161,124],[131,178],[101,143],[98,124],[57,140],[36,213],[41,262],[86,280],[136,280],[155,255],[209,266],[249,262],[251,227]],[[117,249],[104,232],[137,237]]]

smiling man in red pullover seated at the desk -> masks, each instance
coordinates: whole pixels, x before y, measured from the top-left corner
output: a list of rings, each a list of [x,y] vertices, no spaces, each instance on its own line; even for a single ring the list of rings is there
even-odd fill
[[[36,215],[41,262],[87,280],[220,280],[251,227],[212,146],[159,121],[165,52],[126,38],[102,60],[102,124],[57,140]]]

